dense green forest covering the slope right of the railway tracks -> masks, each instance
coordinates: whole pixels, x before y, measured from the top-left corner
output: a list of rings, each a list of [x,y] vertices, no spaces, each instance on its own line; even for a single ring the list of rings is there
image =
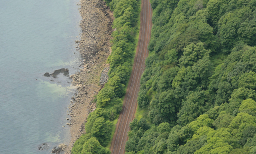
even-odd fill
[[[256,0],[150,0],[126,154],[256,154]]]

